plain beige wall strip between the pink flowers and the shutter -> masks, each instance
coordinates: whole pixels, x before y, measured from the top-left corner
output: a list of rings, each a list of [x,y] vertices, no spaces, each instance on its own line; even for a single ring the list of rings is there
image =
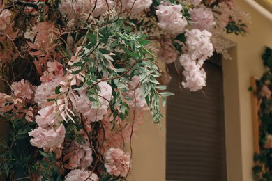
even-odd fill
[[[166,116],[165,107],[162,112]],[[143,125],[136,132],[137,137],[133,138],[133,166],[129,181],[165,180],[165,118],[161,127],[153,123],[150,113],[146,113]]]

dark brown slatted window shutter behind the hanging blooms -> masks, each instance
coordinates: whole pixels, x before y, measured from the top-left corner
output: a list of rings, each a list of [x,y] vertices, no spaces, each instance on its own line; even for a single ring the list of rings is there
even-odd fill
[[[167,98],[166,180],[225,181],[225,127],[220,56],[205,62],[207,86],[190,92],[178,86],[178,76],[169,65],[172,81]]]

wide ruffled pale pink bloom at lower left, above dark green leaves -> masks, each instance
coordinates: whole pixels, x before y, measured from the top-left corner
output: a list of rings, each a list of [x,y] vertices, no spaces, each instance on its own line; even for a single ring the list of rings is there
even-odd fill
[[[65,138],[65,133],[66,130],[63,125],[60,125],[57,129],[43,129],[38,127],[29,132],[29,136],[33,137],[33,139],[30,140],[30,143],[38,148],[61,147]]]

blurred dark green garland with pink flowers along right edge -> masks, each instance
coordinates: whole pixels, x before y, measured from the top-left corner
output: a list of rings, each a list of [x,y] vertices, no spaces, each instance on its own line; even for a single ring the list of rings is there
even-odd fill
[[[271,114],[271,82],[272,82],[272,49],[266,47],[262,54],[266,72],[257,81],[256,95],[259,102],[259,153],[255,152],[253,173],[255,180],[271,180],[272,170],[272,114]]]

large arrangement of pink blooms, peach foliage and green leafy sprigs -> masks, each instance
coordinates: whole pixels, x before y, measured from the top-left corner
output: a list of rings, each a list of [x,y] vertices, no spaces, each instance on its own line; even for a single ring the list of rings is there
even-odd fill
[[[10,123],[0,170],[10,179],[126,179],[123,148],[142,112],[160,123],[160,100],[172,95],[156,60],[180,63],[181,84],[197,91],[204,61],[214,50],[227,57],[222,33],[245,33],[242,20],[234,1],[221,0],[0,4],[0,113]]]

